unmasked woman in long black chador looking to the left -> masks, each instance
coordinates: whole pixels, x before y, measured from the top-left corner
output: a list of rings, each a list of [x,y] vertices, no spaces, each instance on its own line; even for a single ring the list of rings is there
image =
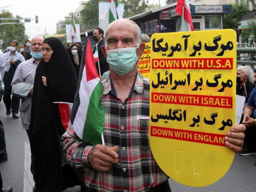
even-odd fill
[[[66,162],[60,136],[69,121],[78,79],[70,58],[58,38],[46,38],[43,59],[34,80],[31,108],[31,150],[34,156],[36,192],[60,192],[83,184]]]

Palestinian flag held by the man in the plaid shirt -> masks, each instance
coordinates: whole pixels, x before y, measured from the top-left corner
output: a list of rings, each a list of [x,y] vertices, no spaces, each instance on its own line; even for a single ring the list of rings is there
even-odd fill
[[[101,143],[105,111],[100,103],[103,85],[98,76],[90,40],[86,34],[78,87],[70,122],[77,136],[93,146]]]

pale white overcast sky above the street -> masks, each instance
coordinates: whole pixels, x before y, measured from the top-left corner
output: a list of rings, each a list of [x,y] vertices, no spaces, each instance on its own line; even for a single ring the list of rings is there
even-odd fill
[[[35,20],[25,22],[26,34],[31,40],[34,36],[56,33],[56,23],[64,20],[64,16],[74,12],[78,8],[78,3],[82,0],[0,0],[0,10],[9,10],[13,17],[19,15],[22,18],[35,19],[38,15],[38,24]],[[108,1],[108,0],[106,0]],[[41,2],[41,4],[39,3]],[[149,0],[150,4],[158,4],[159,0]],[[165,0],[160,0],[164,6]],[[8,7],[5,7],[8,6]],[[5,7],[5,8],[3,8]]]

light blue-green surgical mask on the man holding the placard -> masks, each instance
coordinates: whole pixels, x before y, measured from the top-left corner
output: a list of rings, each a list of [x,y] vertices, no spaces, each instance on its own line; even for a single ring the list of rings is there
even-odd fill
[[[138,47],[128,47],[106,50],[108,54],[107,62],[116,74],[123,76],[128,74],[134,68],[135,63],[139,58],[136,55],[137,48]]]

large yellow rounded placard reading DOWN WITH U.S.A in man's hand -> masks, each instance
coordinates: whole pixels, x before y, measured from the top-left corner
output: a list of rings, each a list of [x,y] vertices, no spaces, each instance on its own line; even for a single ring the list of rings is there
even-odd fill
[[[236,33],[153,34],[150,148],[160,168],[187,186],[207,186],[228,171],[225,146],[235,125]]]

